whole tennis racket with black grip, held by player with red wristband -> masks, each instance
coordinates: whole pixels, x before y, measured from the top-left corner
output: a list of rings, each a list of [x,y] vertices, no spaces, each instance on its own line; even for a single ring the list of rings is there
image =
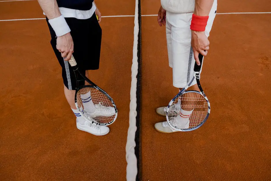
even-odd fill
[[[210,102],[200,85],[200,69],[203,55],[199,54],[200,65],[194,65],[192,80],[170,101],[166,119],[171,128],[178,131],[192,131],[202,126],[210,114]],[[187,91],[196,79],[198,91]]]

